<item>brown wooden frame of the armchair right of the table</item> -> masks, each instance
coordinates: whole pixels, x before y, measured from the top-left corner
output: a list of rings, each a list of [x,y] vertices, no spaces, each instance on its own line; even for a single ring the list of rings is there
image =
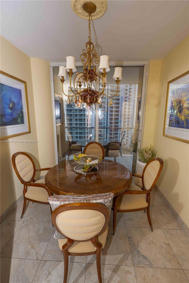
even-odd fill
[[[146,168],[148,167],[148,165],[154,161],[154,160],[157,160],[159,161],[159,164],[160,164],[160,167],[159,167],[159,171],[154,179],[154,182],[152,183],[151,187],[149,188],[149,190],[146,190],[146,188],[144,187],[144,172],[146,170]],[[149,225],[150,225],[150,228],[151,228],[151,231],[153,231],[153,227],[152,227],[152,224],[151,224],[151,218],[150,218],[150,193],[151,193],[151,190],[153,189],[155,183],[157,182],[157,179],[162,171],[162,168],[163,168],[163,160],[159,157],[156,157],[156,158],[153,158],[151,159],[147,164],[146,166],[144,167],[144,170],[142,172],[142,176],[139,176],[139,175],[136,175],[136,174],[132,174],[133,177],[139,177],[139,178],[142,178],[142,188],[141,188],[141,191],[129,191],[129,190],[126,190],[125,192],[123,192],[121,195],[118,195],[117,197],[114,198],[113,200],[113,235],[115,235],[115,226],[116,226],[116,216],[117,216],[117,212],[133,212],[133,211],[139,211],[139,210],[146,210],[147,212],[147,217],[148,217],[148,222],[149,222]],[[139,194],[146,194],[146,202],[148,203],[148,205],[146,207],[143,207],[143,208],[138,208],[138,209],[129,209],[129,210],[122,210],[122,209],[118,209],[118,200],[121,196],[123,195],[139,195]]]

